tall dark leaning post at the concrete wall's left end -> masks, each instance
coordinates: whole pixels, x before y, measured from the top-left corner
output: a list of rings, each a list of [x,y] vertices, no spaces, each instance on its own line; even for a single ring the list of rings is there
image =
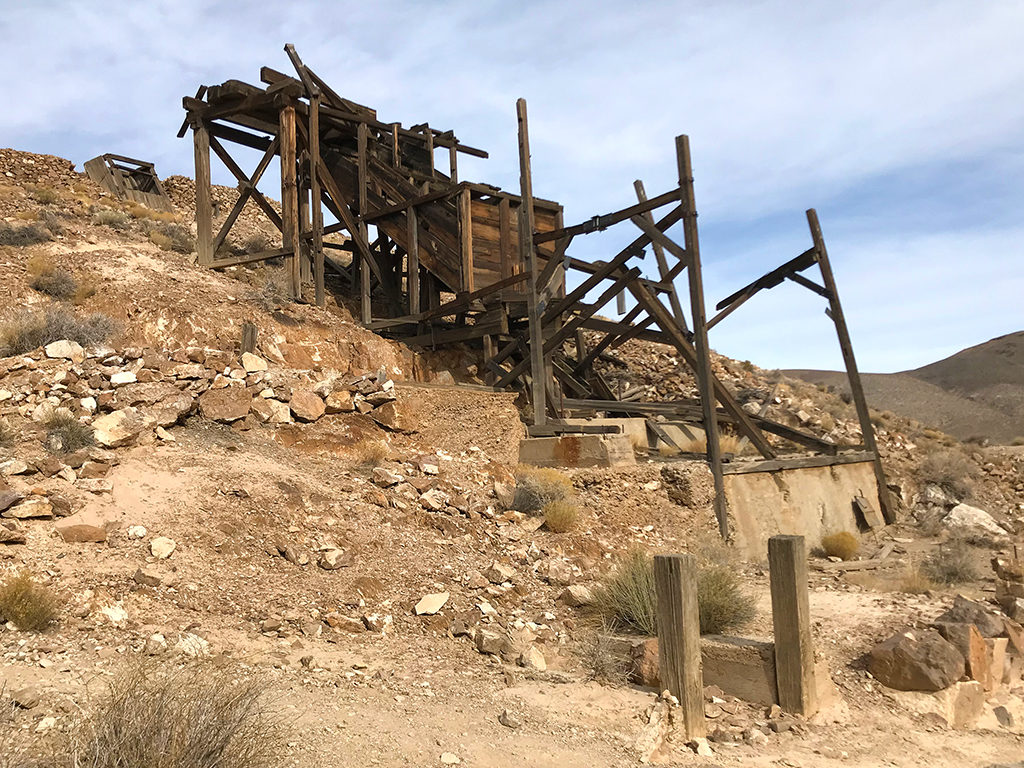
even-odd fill
[[[683,205],[683,237],[689,257],[687,276],[690,284],[690,316],[693,318],[693,346],[696,350],[697,389],[708,444],[708,463],[715,480],[715,517],[723,539],[729,538],[729,511],[722,475],[722,446],[719,442],[718,411],[715,400],[711,347],[708,344],[708,318],[703,303],[703,276],[700,270],[700,245],[697,241],[697,208],[693,195],[693,166],[690,163],[689,136],[676,136],[676,162],[679,165],[679,199]]]

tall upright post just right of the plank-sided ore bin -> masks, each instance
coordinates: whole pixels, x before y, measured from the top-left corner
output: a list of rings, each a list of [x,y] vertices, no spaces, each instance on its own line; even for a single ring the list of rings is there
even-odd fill
[[[526,99],[516,101],[516,116],[519,121],[519,256],[523,266],[529,270],[527,280],[526,313],[529,315],[529,361],[531,394],[534,400],[534,423],[544,424],[548,419],[548,408],[544,387],[547,370],[544,364],[544,331],[541,327],[541,307],[538,302],[537,251],[534,248],[534,181],[529,170],[529,126],[526,121]]]

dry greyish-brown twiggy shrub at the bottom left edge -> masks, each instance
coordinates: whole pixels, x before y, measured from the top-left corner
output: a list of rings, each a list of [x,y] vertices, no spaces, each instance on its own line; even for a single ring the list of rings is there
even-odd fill
[[[76,768],[269,768],[284,728],[264,684],[210,662],[124,668],[69,736]]]

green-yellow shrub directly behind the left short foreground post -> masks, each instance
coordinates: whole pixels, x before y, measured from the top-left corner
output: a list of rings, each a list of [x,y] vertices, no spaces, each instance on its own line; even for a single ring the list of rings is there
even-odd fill
[[[697,603],[701,634],[737,630],[754,618],[751,595],[736,571],[722,563],[701,562],[697,568]],[[657,598],[654,563],[642,550],[632,550],[594,591],[594,607],[609,626],[626,632],[656,635]]]

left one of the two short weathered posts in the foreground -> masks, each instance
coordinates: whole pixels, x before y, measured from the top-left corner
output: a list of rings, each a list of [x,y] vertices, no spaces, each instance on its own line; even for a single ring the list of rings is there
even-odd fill
[[[707,733],[700,667],[700,611],[693,555],[656,555],[657,662],[662,688],[679,699],[687,739]]]

